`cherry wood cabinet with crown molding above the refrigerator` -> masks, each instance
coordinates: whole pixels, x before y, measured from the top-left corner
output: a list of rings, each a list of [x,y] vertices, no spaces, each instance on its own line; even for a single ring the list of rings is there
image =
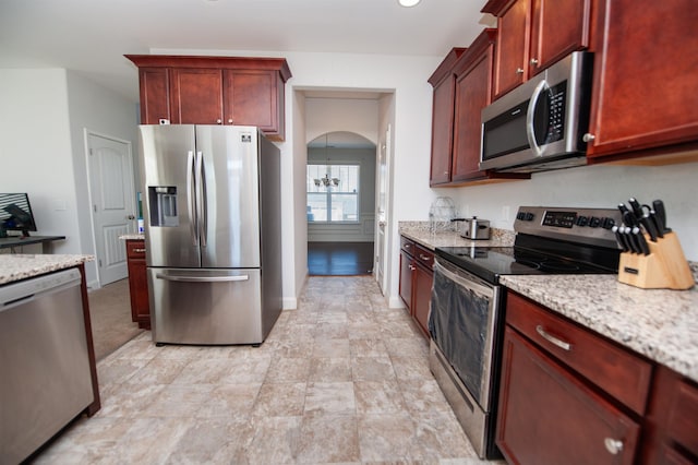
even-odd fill
[[[141,122],[256,126],[285,138],[282,58],[127,55],[139,67]]]

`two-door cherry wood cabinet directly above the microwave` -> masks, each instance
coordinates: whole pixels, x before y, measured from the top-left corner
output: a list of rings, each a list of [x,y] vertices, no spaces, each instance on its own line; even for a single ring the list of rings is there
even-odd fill
[[[589,47],[591,0],[491,0],[497,16],[497,98],[575,50]]]

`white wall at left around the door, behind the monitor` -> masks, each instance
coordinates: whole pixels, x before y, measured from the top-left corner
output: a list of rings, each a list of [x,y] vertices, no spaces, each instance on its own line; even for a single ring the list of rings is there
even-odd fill
[[[94,254],[85,129],[132,142],[132,102],[62,69],[0,70],[0,186],[28,192],[37,235],[61,235],[55,253]],[[86,263],[89,286],[95,262]]]

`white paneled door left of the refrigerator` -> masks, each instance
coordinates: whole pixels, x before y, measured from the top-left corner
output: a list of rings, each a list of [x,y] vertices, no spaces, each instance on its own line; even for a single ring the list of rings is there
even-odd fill
[[[120,236],[135,231],[131,143],[87,134],[89,199],[99,285],[128,275],[125,243]]]

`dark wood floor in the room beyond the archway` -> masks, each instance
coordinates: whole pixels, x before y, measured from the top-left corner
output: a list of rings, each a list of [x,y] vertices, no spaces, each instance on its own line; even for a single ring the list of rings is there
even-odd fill
[[[311,276],[373,274],[373,242],[308,242]]]

